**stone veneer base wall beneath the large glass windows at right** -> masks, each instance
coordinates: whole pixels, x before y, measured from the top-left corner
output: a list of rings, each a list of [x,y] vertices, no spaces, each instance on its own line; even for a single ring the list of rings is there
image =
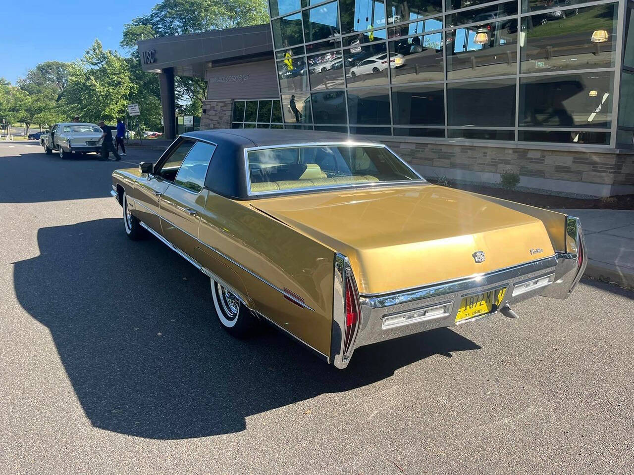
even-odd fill
[[[434,167],[439,172],[443,172],[443,169],[465,170],[465,177],[486,175],[490,179],[494,176],[491,174],[510,170],[520,177],[533,178],[525,180],[532,184],[542,179],[545,183],[543,189],[553,189],[551,180],[582,182],[579,183],[578,193],[583,193],[583,184],[625,186],[620,187],[623,189],[631,186],[634,189],[632,153],[391,141],[385,141],[385,144],[411,165],[427,170],[428,167]],[[550,182],[548,186],[546,182]]]

